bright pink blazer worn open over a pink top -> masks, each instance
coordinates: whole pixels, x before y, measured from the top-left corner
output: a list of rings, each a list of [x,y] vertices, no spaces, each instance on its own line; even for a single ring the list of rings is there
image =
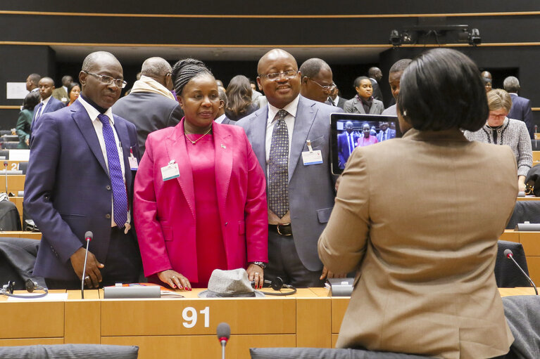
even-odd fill
[[[227,268],[268,262],[266,182],[244,129],[212,126],[215,184]],[[172,159],[180,177],[163,181]],[[184,119],[149,134],[134,184],[134,223],[147,277],[174,269],[198,282],[193,175],[184,139]]]

